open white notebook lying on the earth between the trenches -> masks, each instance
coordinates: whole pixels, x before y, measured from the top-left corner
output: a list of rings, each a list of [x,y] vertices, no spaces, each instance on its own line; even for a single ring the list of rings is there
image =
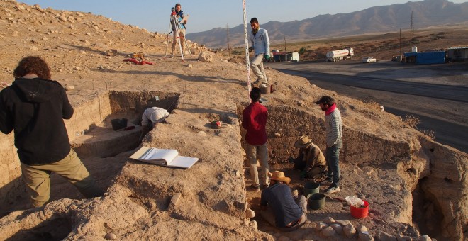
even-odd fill
[[[174,149],[158,149],[154,147],[141,147],[140,150],[130,156],[142,162],[148,162],[167,167],[190,168],[199,159],[196,157],[182,157]]]

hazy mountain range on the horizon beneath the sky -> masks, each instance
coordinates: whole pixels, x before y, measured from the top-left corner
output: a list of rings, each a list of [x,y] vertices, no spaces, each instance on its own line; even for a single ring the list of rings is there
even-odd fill
[[[413,16],[413,17],[412,17]],[[413,21],[411,20],[413,18]],[[248,21],[248,19],[247,19]],[[352,13],[323,14],[301,21],[260,23],[268,30],[270,43],[333,38],[366,33],[388,33],[430,26],[468,24],[468,2],[455,4],[447,0],[409,1],[406,4],[375,6]],[[250,26],[247,26],[250,30]],[[213,28],[189,33],[187,38],[207,47],[227,47],[227,29]],[[244,43],[243,24],[229,28],[230,47]]]

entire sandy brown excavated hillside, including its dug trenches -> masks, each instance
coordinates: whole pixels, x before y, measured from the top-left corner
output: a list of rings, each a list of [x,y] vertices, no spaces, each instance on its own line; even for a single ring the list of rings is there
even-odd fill
[[[65,120],[72,147],[106,194],[84,199],[52,174],[51,200],[26,209],[28,195],[13,134],[0,135],[0,239],[5,240],[357,240],[326,236],[325,218],[364,225],[375,238],[389,235],[441,240],[467,236],[468,168],[465,152],[434,142],[377,103],[340,96],[303,77],[267,67],[273,91],[264,94],[269,166],[302,190],[307,180],[287,162],[294,141],[309,135],[325,150],[324,113],[314,103],[333,96],[344,122],[341,191],[309,209],[298,230],[264,221],[260,191],[250,189],[243,150],[242,111],[248,104],[245,63],[225,60],[188,41],[191,55],[165,57],[167,35],[150,33],[91,13],[56,11],[0,1],[0,81],[13,82],[22,57],[43,57],[52,79],[67,89],[74,115]],[[143,52],[152,65],[126,62]],[[253,74],[251,79],[255,79]],[[140,142],[140,117],[152,106],[170,112]],[[111,120],[128,119],[128,130]],[[212,121],[221,121],[213,128]],[[135,128],[133,128],[135,127]],[[189,169],[138,162],[139,147],[174,149],[197,157]],[[262,167],[259,167],[259,169]],[[320,192],[328,187],[321,183]],[[353,218],[346,196],[369,202]]]

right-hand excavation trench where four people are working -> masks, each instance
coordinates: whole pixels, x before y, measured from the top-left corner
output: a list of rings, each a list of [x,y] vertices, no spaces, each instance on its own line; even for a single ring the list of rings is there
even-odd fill
[[[238,106],[240,120],[242,120],[243,108],[246,105],[244,103]],[[279,170],[284,172],[286,176],[291,177],[289,186],[299,189],[301,193],[304,184],[308,180],[301,181],[299,170],[294,170],[294,165],[288,162],[287,159],[289,154],[294,157],[298,154],[294,142],[301,135],[308,135],[312,142],[318,145],[325,154],[325,125],[323,118],[321,116],[317,117],[302,108],[269,106],[268,104],[266,106],[269,113],[267,121],[269,170],[270,172]],[[241,126],[240,133],[244,138],[245,130]],[[418,182],[413,194],[410,191],[396,189],[397,186],[404,183],[403,177],[397,171],[396,163],[411,160],[408,156],[410,152],[406,143],[384,140],[346,127],[344,133],[344,144],[340,152],[342,191],[330,196],[342,199],[345,196],[359,196],[367,199],[372,205],[370,215],[374,220],[379,220],[382,223],[385,220],[394,220],[407,225],[416,223],[419,225],[421,232],[430,235],[435,235],[436,232],[440,231],[435,228],[435,225],[440,225],[437,220],[442,219],[443,215],[440,213],[440,206],[437,205],[437,197],[428,196],[428,191],[423,188],[424,180]],[[245,140],[242,139],[241,142],[244,147]],[[258,162],[259,179],[261,180],[262,172],[260,169],[262,167],[260,167],[260,161]],[[252,179],[249,167],[250,163],[245,158],[247,207],[257,213],[253,220],[257,221],[259,230],[275,232],[275,229],[260,217],[261,192],[250,188]],[[372,181],[373,179],[379,179],[379,181]],[[328,185],[328,182],[323,181],[320,192],[323,192]],[[355,225],[365,222],[365,220],[352,218],[349,206],[345,203],[328,198],[325,203],[325,207],[321,210],[308,209],[308,220],[318,222],[333,213],[335,220],[350,220]],[[413,203],[413,206],[410,203]],[[411,213],[412,210],[413,213]],[[415,215],[428,210],[432,211],[431,217],[427,214]],[[418,219],[417,217],[425,218]],[[411,228],[408,230],[411,230]]]

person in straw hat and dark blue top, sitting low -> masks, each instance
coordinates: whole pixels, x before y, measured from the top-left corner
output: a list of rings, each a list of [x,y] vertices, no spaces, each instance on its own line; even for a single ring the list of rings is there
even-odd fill
[[[269,172],[270,185],[262,191],[260,198],[260,215],[267,222],[282,231],[292,231],[306,223],[307,201],[301,196],[296,198],[291,194],[289,182],[284,172]]]

